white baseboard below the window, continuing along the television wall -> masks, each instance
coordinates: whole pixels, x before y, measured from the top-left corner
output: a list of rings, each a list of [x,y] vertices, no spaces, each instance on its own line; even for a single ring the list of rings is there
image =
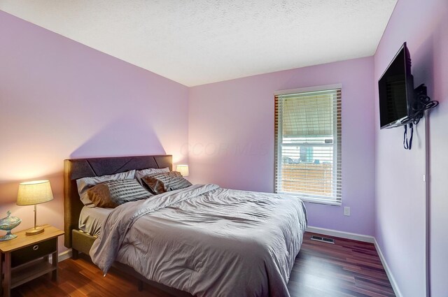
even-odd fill
[[[393,277],[391,269],[387,265],[386,259],[384,259],[383,252],[381,252],[381,249],[379,248],[376,238],[374,238],[373,236],[367,236],[367,235],[362,235],[362,234],[357,234],[357,233],[349,233],[349,232],[343,232],[343,231],[337,231],[337,230],[325,229],[325,228],[319,228],[319,227],[313,227],[313,226],[308,226],[307,231],[312,232],[312,233],[323,234],[326,236],[335,236],[335,237],[340,237],[340,238],[346,238],[346,239],[351,239],[351,240],[358,240],[358,241],[373,243],[375,246],[375,249],[377,249],[379,259],[381,260],[381,263],[383,264],[383,267],[384,267],[384,270],[386,271],[386,275],[389,279],[389,282],[391,282],[391,286],[395,293],[395,296],[402,297],[401,291],[400,291],[400,289],[398,289],[398,284],[397,284],[397,282],[395,282],[395,278]]]

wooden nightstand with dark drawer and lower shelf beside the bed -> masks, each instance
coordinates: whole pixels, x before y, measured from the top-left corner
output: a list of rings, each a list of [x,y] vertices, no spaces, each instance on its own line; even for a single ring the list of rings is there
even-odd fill
[[[15,233],[17,238],[0,242],[0,280],[3,296],[10,296],[10,290],[36,277],[52,273],[57,280],[57,237],[64,231],[53,226],[43,226],[45,231],[34,236],[26,231]],[[52,263],[48,256],[52,255]],[[4,271],[3,271],[4,270]]]

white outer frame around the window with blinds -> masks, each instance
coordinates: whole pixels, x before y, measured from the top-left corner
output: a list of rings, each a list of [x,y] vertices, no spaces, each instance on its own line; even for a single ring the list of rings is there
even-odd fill
[[[339,110],[338,108],[334,108],[334,119],[333,120],[333,143],[332,143],[332,150],[333,150],[333,166],[332,171],[332,179],[335,183],[337,183],[337,180],[340,180],[340,188],[339,188],[339,194],[335,195],[335,198],[329,199],[329,198],[318,198],[319,195],[317,194],[304,194],[304,193],[291,193],[291,192],[283,192],[278,191],[278,189],[281,189],[281,174],[277,174],[281,170],[281,159],[283,158],[282,147],[283,147],[283,136],[281,135],[280,127],[283,126],[283,115],[277,115],[276,108],[278,103],[274,104],[274,193],[278,194],[286,194],[286,195],[293,195],[298,196],[302,199],[302,201],[307,201],[310,203],[318,203],[318,204],[325,204],[325,205],[342,205],[342,84],[335,84],[335,85],[321,85],[321,86],[315,86],[315,87],[304,87],[304,88],[298,88],[298,89],[285,89],[281,91],[274,92],[274,99],[276,99],[278,96],[281,95],[290,95],[290,94],[300,94],[300,93],[307,93],[307,92],[319,92],[319,91],[328,91],[332,89],[339,89],[341,92],[341,98],[336,99],[336,103],[340,104]],[[279,110],[279,113],[281,111]],[[277,135],[279,133],[279,135]],[[300,143],[297,143],[295,146],[300,146]],[[313,144],[310,146],[320,146],[318,144]],[[330,146],[330,145],[325,145]],[[339,158],[339,160],[337,159]],[[337,172],[340,172],[339,175]],[[337,192],[337,189],[335,189]],[[325,197],[325,196],[321,196]]]

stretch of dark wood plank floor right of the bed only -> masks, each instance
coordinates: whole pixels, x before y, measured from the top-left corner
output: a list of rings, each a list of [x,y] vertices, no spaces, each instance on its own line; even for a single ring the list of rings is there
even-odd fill
[[[291,296],[395,296],[372,243],[331,237],[332,245],[311,240],[313,235],[305,233],[295,258]]]

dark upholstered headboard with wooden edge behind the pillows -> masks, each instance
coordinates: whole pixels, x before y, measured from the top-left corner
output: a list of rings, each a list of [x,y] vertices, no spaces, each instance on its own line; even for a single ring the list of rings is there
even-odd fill
[[[76,185],[78,178],[165,167],[172,170],[172,155],[64,160],[64,245],[71,247],[71,230],[78,229],[79,214],[84,206]]]

